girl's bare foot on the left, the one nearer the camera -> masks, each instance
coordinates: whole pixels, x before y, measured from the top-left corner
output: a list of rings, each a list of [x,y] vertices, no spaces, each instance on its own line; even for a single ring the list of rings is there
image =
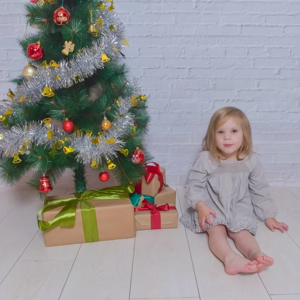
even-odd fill
[[[225,272],[228,275],[235,275],[237,273],[257,273],[259,271],[257,263],[258,261],[255,259],[250,261],[249,259],[234,253],[224,261]]]

